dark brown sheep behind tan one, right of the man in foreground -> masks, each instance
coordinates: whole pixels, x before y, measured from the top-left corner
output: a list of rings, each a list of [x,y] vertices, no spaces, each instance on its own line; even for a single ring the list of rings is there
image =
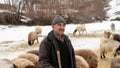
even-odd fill
[[[90,68],[97,68],[98,66],[98,56],[97,54],[90,49],[80,49],[75,51],[76,55],[82,56]]]

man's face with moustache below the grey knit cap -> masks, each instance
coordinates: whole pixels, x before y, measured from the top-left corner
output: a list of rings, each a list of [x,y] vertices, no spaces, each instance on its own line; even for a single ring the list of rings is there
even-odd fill
[[[64,23],[58,23],[58,24],[52,25],[52,28],[53,28],[56,35],[62,36],[62,34],[65,31],[65,24]]]

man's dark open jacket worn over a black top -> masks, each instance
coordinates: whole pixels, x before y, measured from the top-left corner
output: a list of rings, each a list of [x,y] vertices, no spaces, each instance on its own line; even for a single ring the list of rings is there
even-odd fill
[[[66,41],[70,53],[71,67],[76,68],[74,49],[72,47],[71,41],[66,35],[64,35],[64,39]],[[58,44],[56,43],[53,31],[51,31],[40,44],[39,48],[40,68],[59,68],[57,59],[57,50],[59,50],[59,48],[56,48],[57,45]]]

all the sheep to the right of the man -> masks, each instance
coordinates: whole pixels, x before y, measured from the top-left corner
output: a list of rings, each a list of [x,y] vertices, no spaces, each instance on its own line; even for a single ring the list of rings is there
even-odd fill
[[[81,49],[78,51],[75,51],[76,55],[79,55],[79,59],[81,61],[78,61],[78,56],[77,58],[77,68],[97,68],[98,67],[98,58],[103,59],[108,58],[108,54],[110,53],[111,59],[111,68],[120,68],[120,34],[116,34],[115,32],[115,24],[112,23],[110,25],[111,30],[105,30],[104,31],[104,38],[100,40],[100,48],[99,48],[99,56],[94,53],[92,50],[86,50],[86,49]],[[78,26],[74,32],[73,35],[75,36],[76,32],[82,34],[86,32],[85,25],[82,24]],[[80,51],[80,52],[79,52]],[[81,57],[80,57],[81,56]],[[85,61],[87,61],[88,64],[86,64]],[[79,63],[79,64],[78,64]],[[80,64],[81,63],[81,64]]]

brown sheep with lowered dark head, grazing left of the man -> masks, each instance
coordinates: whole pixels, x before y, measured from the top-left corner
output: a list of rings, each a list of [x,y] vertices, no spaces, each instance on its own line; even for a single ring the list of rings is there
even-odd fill
[[[35,40],[37,40],[37,43],[39,43],[37,33],[35,31],[30,32],[28,35],[28,44],[30,46],[33,45]]]

